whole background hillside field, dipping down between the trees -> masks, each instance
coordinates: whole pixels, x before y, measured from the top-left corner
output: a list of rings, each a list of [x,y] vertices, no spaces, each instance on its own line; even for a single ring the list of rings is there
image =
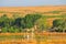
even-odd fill
[[[48,24],[52,25],[53,20],[56,18],[66,18],[66,6],[50,6],[50,7],[1,7],[0,8],[0,16],[7,14],[9,18],[12,18],[14,14],[19,14],[19,16],[24,16],[28,13],[41,13],[45,15]],[[53,18],[53,19],[52,19]]]

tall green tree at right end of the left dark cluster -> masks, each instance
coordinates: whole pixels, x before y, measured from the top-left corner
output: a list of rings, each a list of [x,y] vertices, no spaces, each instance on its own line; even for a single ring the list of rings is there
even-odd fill
[[[42,16],[41,14],[26,14],[24,18],[25,28],[26,29],[33,28],[36,20],[38,20],[41,16]]]

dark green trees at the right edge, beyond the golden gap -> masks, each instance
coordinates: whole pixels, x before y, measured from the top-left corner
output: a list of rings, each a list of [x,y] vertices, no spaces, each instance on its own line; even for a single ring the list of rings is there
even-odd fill
[[[57,19],[53,21],[53,32],[66,32],[66,19]]]

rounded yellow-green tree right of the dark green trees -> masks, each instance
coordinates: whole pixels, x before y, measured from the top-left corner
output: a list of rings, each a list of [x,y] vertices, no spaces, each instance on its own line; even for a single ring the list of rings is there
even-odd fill
[[[46,19],[44,16],[42,16],[41,19],[38,19],[35,22],[35,24],[36,24],[36,28],[37,28],[38,32],[47,31],[47,29],[48,29]]]

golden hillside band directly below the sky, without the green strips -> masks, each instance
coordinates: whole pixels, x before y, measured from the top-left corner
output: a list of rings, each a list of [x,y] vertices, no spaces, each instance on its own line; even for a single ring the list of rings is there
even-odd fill
[[[2,7],[0,8],[0,15],[7,13],[8,16],[18,13],[20,15],[25,15],[28,13],[43,13],[46,15],[53,15],[52,11],[57,11],[59,14],[66,12],[66,6],[51,6],[51,7]],[[59,15],[58,14],[58,15]],[[57,14],[54,14],[57,15]]]

